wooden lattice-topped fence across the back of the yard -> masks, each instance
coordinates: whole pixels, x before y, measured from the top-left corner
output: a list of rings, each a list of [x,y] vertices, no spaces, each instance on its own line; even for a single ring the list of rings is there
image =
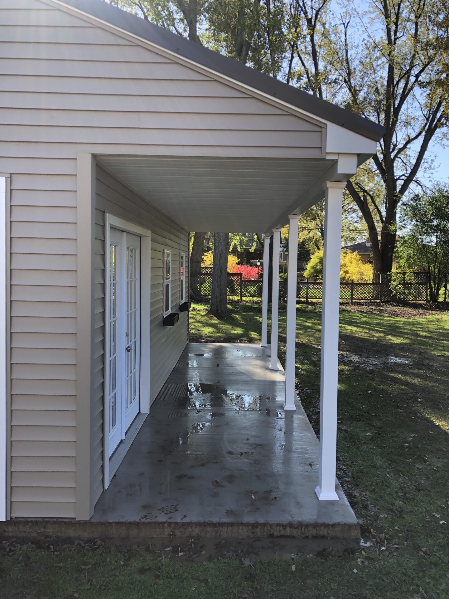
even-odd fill
[[[418,273],[421,274],[421,273]],[[196,280],[195,280],[196,279]],[[198,280],[199,279],[199,280]],[[349,301],[427,301],[427,281],[424,277],[415,277],[408,281],[405,277],[394,280],[383,278],[381,283],[340,283],[340,300]],[[190,277],[190,285],[201,285],[201,295],[210,298],[212,291],[212,273],[202,271],[201,275]],[[238,299],[262,298],[262,279],[242,279],[240,273],[227,274],[227,296]],[[279,282],[279,298],[287,301],[287,281]],[[296,298],[308,301],[323,299],[323,283],[319,281],[298,280]]]

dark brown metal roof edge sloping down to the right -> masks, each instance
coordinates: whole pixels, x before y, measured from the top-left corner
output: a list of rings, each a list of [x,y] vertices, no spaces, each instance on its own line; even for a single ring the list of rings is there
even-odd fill
[[[384,134],[384,127],[372,120],[278,81],[274,77],[243,65],[238,60],[227,58],[200,44],[172,34],[154,23],[107,4],[104,0],[58,0],[58,2],[370,140],[379,141]]]

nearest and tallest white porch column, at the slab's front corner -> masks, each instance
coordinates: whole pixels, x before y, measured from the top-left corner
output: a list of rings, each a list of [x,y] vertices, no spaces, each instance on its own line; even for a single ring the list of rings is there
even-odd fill
[[[340,297],[341,208],[345,183],[324,184],[323,306],[321,312],[320,500],[338,500],[335,492]]]

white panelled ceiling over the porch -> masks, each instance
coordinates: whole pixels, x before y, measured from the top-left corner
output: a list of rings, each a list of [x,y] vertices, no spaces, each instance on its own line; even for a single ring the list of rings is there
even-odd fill
[[[324,196],[318,191],[317,197],[317,181],[333,164],[321,158],[101,155],[97,160],[187,231],[210,232],[268,231],[295,202],[308,207],[311,199]]]

